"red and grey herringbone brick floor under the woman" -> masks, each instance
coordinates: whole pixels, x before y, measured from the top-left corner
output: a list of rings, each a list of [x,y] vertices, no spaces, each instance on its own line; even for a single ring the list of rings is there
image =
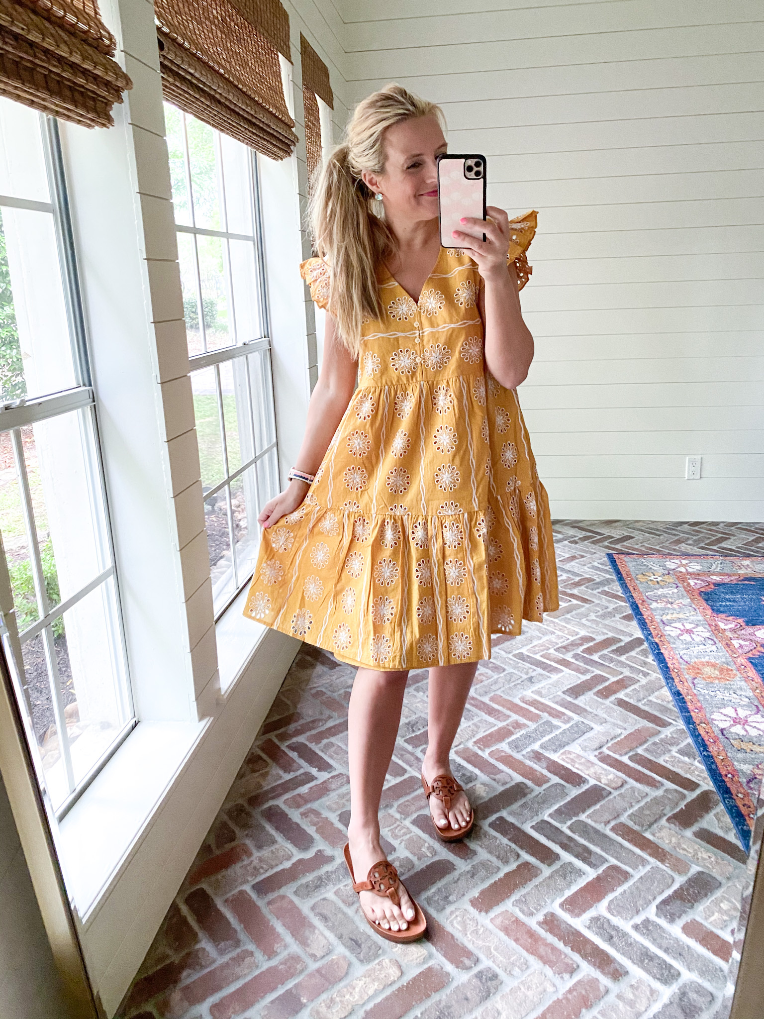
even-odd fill
[[[391,946],[342,861],[353,669],[304,645],[127,998],[141,1019],[722,1019],[746,858],[605,559],[761,552],[746,524],[555,525],[561,607],[493,640],[432,833],[413,672],[382,803],[426,910]]]

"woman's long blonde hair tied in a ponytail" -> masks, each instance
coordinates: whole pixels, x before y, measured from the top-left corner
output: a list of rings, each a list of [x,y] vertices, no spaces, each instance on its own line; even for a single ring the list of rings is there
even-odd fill
[[[361,174],[384,171],[387,127],[432,115],[445,129],[439,106],[394,83],[367,96],[353,110],[342,143],[329,156],[313,187],[309,217],[314,251],[329,263],[329,311],[341,342],[354,358],[364,318],[384,314],[377,266],[395,252],[395,238],[379,208],[382,203],[375,201]]]

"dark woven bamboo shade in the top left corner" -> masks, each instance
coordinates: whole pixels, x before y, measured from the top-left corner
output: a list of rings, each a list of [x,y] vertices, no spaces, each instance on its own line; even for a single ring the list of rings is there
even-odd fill
[[[86,127],[114,123],[132,82],[96,0],[0,0],[0,95]]]

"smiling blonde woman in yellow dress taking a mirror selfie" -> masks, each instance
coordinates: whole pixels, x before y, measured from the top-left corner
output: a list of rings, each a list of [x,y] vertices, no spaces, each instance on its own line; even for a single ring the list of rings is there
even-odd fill
[[[492,633],[557,607],[546,492],[514,388],[533,337],[519,289],[536,213],[489,207],[438,236],[439,107],[397,85],[356,108],[312,200],[301,267],[328,309],[298,475],[260,514],[245,614],[358,666],[348,708],[345,858],[367,920],[391,941],[425,920],[380,846],[378,810],[410,668],[429,667],[422,764],[435,830],[463,838],[449,764]],[[507,254],[508,253],[508,254]],[[360,387],[354,391],[360,369]]]

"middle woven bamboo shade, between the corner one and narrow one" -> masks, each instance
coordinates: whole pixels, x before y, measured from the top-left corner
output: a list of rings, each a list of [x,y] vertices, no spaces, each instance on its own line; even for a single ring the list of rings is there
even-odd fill
[[[278,36],[280,22],[273,16],[261,31],[254,20],[261,7],[273,14],[272,4],[255,0],[156,0],[162,88],[186,113],[265,156],[284,159],[297,139],[279,49],[265,34],[267,29]],[[288,52],[286,34],[281,25],[278,38]]]

